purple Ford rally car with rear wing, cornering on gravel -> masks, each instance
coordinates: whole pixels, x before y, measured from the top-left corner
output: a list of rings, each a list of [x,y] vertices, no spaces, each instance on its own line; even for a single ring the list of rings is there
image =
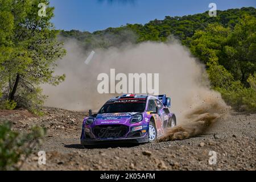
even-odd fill
[[[167,127],[176,125],[166,95],[126,94],[114,97],[97,114],[89,111],[82,122],[81,144],[108,142],[154,142]]]

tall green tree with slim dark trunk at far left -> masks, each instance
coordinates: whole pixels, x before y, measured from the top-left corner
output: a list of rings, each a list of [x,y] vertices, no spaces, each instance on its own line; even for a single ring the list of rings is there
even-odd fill
[[[39,3],[46,4],[46,16],[38,15]],[[11,6],[7,7],[9,4]],[[6,7],[6,14],[13,17],[9,35],[13,51],[9,57],[1,57],[1,77],[6,80],[2,86],[5,100],[36,111],[45,98],[39,85],[57,85],[65,77],[53,74],[55,61],[65,55],[63,43],[56,39],[58,31],[49,22],[53,17],[53,7],[49,7],[48,0],[2,0],[0,5]],[[3,34],[8,34],[7,31],[4,30]]]

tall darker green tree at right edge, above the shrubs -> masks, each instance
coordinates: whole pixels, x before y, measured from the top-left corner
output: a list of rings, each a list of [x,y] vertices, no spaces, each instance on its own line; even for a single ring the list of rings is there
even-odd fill
[[[226,60],[230,62],[230,72],[237,80],[249,86],[247,78],[256,71],[256,18],[245,15],[234,27],[227,46],[224,47]],[[227,61],[229,60],[229,61]]]

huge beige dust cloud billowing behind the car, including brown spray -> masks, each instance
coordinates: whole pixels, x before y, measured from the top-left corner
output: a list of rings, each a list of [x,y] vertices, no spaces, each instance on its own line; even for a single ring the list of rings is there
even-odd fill
[[[110,76],[110,69],[114,68],[115,75],[159,73],[159,94],[171,97],[170,110],[176,114],[179,125],[168,130],[161,140],[197,135],[226,113],[227,106],[220,94],[209,89],[204,65],[177,42],[146,42],[94,49],[95,54],[89,64],[84,61],[92,50],[85,52],[72,39],[66,41],[64,46],[67,56],[57,62],[55,73],[65,73],[66,79],[56,87],[43,85],[44,94],[49,96],[46,106],[97,111],[110,97],[120,95],[100,94],[97,91],[100,83],[97,76],[100,73]]]

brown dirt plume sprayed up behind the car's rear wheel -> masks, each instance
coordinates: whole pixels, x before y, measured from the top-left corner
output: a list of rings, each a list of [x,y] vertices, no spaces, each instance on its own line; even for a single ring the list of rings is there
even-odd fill
[[[219,93],[205,91],[201,94],[201,99],[183,114],[181,124],[167,129],[158,142],[182,140],[204,134],[214,123],[220,121],[221,117],[228,115],[230,107],[225,104]]]

